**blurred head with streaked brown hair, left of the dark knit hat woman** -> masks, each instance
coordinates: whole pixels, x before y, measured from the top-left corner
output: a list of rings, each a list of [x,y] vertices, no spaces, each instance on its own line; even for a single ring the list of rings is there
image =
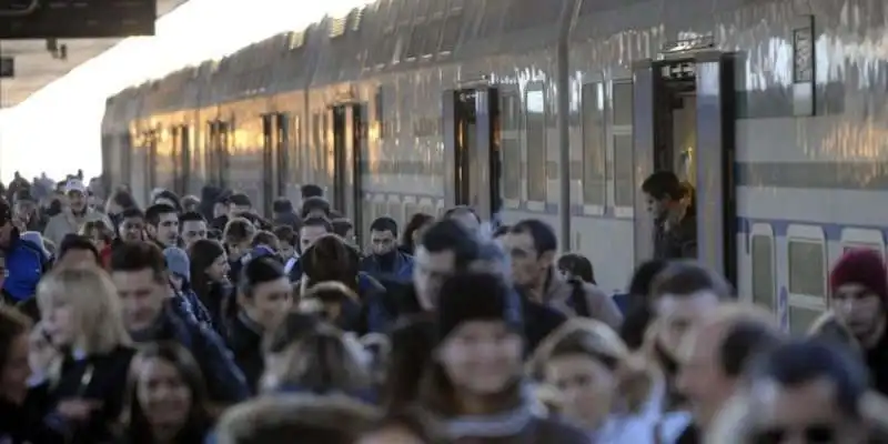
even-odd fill
[[[293,329],[293,323],[302,323],[304,330],[294,332],[297,329]],[[280,329],[294,340],[284,343],[284,334],[272,333],[262,376],[265,391],[294,389],[316,394],[349,394],[370,385],[363,351],[336,327],[287,319]]]

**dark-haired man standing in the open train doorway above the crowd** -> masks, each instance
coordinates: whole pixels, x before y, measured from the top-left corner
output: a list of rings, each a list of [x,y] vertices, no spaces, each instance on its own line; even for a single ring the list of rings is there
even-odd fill
[[[647,211],[654,216],[654,259],[696,259],[697,218],[693,202],[672,171],[657,171],[642,183]]]

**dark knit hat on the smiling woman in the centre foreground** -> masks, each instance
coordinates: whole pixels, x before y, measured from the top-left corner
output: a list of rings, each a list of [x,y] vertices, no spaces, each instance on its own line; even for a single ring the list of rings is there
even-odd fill
[[[461,273],[441,286],[437,307],[438,340],[463,322],[503,321],[521,329],[521,309],[506,283],[491,273]]]

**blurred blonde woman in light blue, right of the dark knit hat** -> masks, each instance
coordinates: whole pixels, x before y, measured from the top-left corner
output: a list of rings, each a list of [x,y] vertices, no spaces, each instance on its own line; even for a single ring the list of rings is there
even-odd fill
[[[656,442],[663,375],[608,325],[572,319],[543,341],[528,365],[548,389],[545,402],[593,442]]]

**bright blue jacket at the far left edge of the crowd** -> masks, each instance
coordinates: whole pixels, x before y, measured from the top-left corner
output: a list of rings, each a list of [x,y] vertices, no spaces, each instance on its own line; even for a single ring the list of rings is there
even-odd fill
[[[7,278],[3,281],[3,293],[16,302],[33,296],[37,283],[50,266],[43,248],[21,239],[19,230],[13,229],[4,255]]]

